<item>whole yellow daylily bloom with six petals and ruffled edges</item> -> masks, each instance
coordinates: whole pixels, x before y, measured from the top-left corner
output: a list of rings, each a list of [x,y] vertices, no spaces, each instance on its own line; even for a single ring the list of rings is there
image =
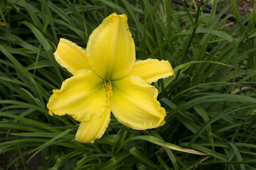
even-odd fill
[[[89,37],[86,51],[60,39],[56,61],[73,74],[60,90],[53,90],[50,115],[70,115],[80,121],[76,141],[93,143],[102,137],[110,113],[122,124],[138,130],[164,125],[165,109],[150,84],[173,74],[168,61],[135,62],[135,44],[127,16],[112,13]]]

